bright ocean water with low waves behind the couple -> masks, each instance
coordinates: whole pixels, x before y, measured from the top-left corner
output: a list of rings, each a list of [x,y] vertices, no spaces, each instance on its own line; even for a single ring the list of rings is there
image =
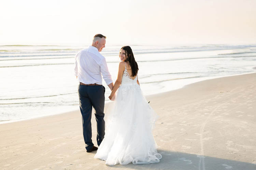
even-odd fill
[[[88,45],[0,46],[0,123],[79,109],[74,56]],[[256,72],[256,45],[130,45],[144,95],[194,82]],[[115,82],[122,45],[106,46]],[[106,87],[105,101],[110,89]]]

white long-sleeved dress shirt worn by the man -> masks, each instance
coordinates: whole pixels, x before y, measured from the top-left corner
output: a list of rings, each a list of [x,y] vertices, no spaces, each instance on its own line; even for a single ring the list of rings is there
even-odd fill
[[[106,64],[106,59],[96,47],[89,46],[75,55],[75,76],[84,84],[102,84],[102,77],[106,84],[113,83]]]

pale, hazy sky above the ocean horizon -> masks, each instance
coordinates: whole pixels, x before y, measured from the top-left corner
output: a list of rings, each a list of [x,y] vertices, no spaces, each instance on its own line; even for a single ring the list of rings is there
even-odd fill
[[[256,0],[1,0],[0,44],[256,44]]]

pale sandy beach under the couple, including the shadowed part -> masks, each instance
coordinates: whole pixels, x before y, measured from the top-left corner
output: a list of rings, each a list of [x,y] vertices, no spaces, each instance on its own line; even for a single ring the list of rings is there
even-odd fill
[[[85,150],[77,108],[0,124],[0,169],[256,169],[256,73],[204,80],[146,98],[159,115],[153,130],[159,163],[109,167],[94,159],[96,151]],[[94,114],[91,122],[96,145]]]

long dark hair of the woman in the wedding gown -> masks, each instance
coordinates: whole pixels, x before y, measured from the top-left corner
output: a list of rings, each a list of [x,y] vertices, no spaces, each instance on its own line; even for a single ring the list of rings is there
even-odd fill
[[[131,66],[131,77],[134,77],[137,75],[138,73],[138,64],[135,61],[135,58],[133,56],[132,50],[130,46],[124,46],[121,49],[125,50],[125,56],[127,57],[127,59],[125,60],[125,62],[129,62],[129,65]],[[121,50],[120,49],[120,50]],[[127,54],[127,55],[126,55]]]

